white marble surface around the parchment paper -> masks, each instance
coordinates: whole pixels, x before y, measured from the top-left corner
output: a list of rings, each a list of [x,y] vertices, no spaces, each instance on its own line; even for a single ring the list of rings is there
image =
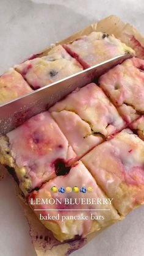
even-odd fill
[[[1,0],[0,73],[110,14],[117,14],[144,34],[143,0]],[[0,256],[35,256],[10,178],[0,183],[0,203]],[[73,255],[143,256],[143,210],[135,210]]]

